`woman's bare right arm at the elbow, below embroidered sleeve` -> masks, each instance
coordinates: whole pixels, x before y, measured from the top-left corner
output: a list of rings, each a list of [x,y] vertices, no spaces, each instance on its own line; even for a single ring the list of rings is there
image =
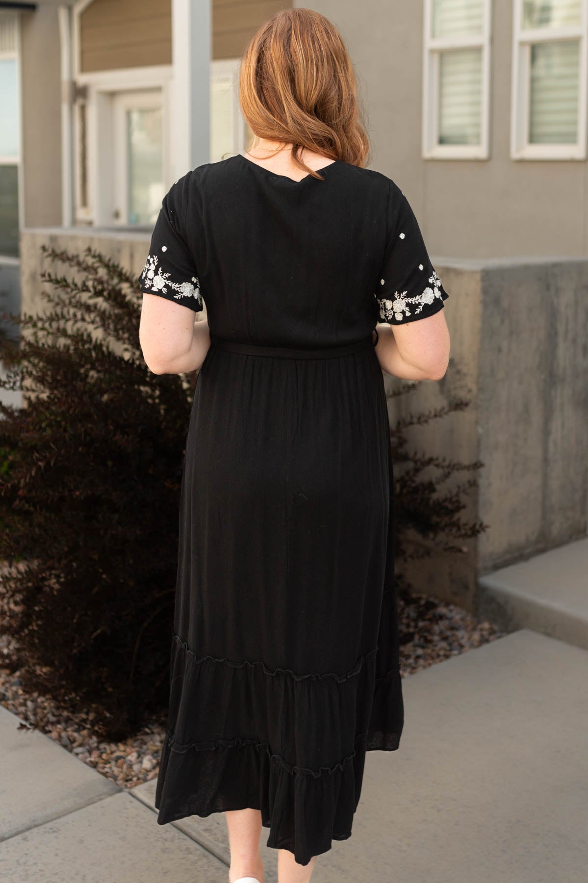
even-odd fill
[[[382,371],[404,380],[441,380],[449,364],[444,310],[405,325],[378,323],[376,356]]]

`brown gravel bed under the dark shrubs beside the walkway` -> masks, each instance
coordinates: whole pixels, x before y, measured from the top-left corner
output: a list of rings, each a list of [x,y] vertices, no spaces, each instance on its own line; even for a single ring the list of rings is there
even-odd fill
[[[478,622],[462,608],[425,595],[413,595],[406,603],[399,600],[398,613],[401,638],[405,641],[401,647],[403,675],[504,634],[491,623]],[[73,717],[50,698],[36,693],[26,695],[20,686],[19,672],[2,667],[5,647],[5,639],[0,636],[0,704],[22,719],[19,728],[40,730],[121,788],[134,788],[156,778],[165,736],[164,717],[150,721],[124,742],[100,741],[93,732],[93,712]]]

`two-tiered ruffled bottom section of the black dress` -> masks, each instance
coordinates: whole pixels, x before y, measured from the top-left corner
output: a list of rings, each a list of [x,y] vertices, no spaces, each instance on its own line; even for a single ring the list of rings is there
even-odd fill
[[[198,656],[175,635],[158,824],[250,807],[298,864],[346,840],[366,751],[400,740],[400,670],[382,660],[375,648],[343,675],[297,675]]]

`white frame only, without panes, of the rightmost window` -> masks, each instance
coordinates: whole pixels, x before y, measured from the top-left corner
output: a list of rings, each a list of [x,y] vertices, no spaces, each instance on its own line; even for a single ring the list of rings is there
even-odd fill
[[[582,0],[580,24],[566,27],[523,27],[523,0],[513,3],[512,93],[510,116],[510,157],[513,160],[585,160],[586,99],[588,69],[586,43],[588,38],[588,0]],[[580,40],[580,78],[576,144],[530,144],[529,94],[531,86],[531,44]]]

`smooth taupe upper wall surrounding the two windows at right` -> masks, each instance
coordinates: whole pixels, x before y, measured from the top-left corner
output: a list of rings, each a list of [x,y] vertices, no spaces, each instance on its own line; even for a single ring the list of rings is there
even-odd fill
[[[301,0],[335,22],[366,98],[372,168],[393,177],[437,254],[588,256],[588,162],[509,157],[512,0],[493,0],[490,158],[421,158],[423,0]]]

